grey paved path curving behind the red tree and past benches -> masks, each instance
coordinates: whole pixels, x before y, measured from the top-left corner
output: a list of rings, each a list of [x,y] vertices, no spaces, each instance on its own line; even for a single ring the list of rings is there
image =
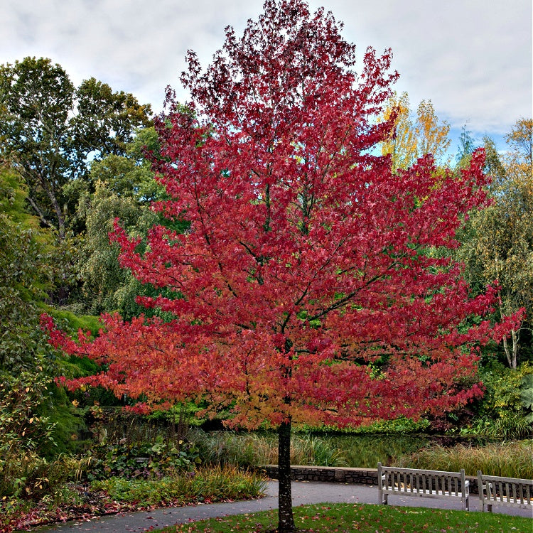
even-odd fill
[[[293,504],[306,505],[313,503],[377,503],[377,487],[369,485],[345,485],[343,483],[314,483],[294,481],[292,484]],[[409,507],[432,507],[438,509],[461,510],[461,503],[449,500],[389,496],[389,505],[405,505]],[[168,507],[150,512],[127,512],[109,515],[89,522],[65,522],[52,526],[33,529],[34,532],[104,532],[104,533],[136,533],[148,531],[150,527],[160,528],[174,524],[183,524],[204,518],[242,515],[276,509],[278,507],[278,482],[269,481],[266,496],[259,500],[246,502],[215,503],[210,505],[190,505],[188,507]],[[532,517],[529,509],[512,507],[493,507],[495,512],[508,515]],[[470,495],[470,511],[479,511],[477,495]],[[533,518],[533,517],[532,517]]]

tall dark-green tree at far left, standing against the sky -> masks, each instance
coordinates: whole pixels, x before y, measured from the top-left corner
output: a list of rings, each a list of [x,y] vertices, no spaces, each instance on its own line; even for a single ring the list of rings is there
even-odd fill
[[[41,223],[55,226],[60,238],[65,237],[60,188],[70,175],[65,124],[72,111],[73,93],[66,72],[50,60],[26,58],[1,67],[3,156],[14,162],[25,179],[28,203]]]

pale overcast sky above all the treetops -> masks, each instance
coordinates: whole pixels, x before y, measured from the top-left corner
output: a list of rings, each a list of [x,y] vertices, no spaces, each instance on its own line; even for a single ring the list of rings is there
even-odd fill
[[[206,65],[257,18],[263,0],[0,0],[0,63],[28,55],[59,63],[75,85],[88,77],[161,110],[190,48]],[[531,0],[310,0],[345,23],[360,53],[392,48],[398,92],[431,99],[439,118],[477,139],[532,117]]]

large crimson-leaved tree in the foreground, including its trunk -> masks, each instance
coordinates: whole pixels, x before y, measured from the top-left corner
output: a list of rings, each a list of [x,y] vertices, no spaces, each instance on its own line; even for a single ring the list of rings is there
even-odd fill
[[[291,424],[360,424],[442,413],[480,392],[476,346],[505,333],[488,321],[495,293],[470,298],[446,250],[485,201],[484,156],[459,175],[431,155],[407,171],[372,151],[394,117],[377,117],[396,72],[390,50],[355,45],[332,14],[302,0],[266,0],[242,38],[226,28],[210,66],[188,54],[192,101],[168,92],[154,164],[188,220],[159,225],[146,249],[117,225],[120,262],[174,298],[140,298],[172,320],[103,317],[88,354],[105,372],[78,379],[163,409],[202,401],[227,424],[279,433],[279,529],[295,530]],[[167,315],[168,316],[168,315]]]

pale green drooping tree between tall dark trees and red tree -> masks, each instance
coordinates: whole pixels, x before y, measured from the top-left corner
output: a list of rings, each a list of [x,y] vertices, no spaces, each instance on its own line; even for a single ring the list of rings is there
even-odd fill
[[[91,313],[120,310],[131,316],[139,312],[134,299],[144,289],[119,266],[119,247],[109,241],[109,233],[117,217],[136,237],[145,237],[148,228],[160,221],[149,204],[162,197],[163,188],[143,156],[145,149],[157,153],[157,139],[154,128],[139,131],[126,145],[126,155],[111,154],[92,165],[90,181],[95,183],[95,192],[85,194],[78,208],[87,227],[79,257],[82,301]]]

